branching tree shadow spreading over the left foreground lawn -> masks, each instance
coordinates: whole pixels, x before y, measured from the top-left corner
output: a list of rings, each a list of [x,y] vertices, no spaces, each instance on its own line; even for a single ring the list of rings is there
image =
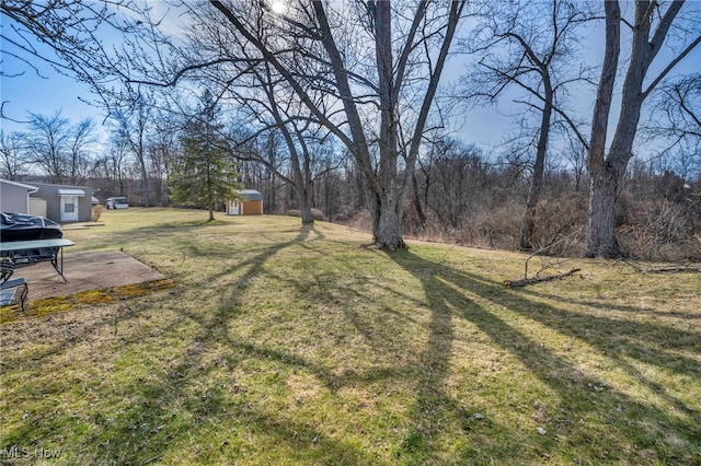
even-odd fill
[[[235,290],[237,293],[243,292],[248,283],[265,273],[265,264],[278,252],[308,241],[311,233],[315,233],[312,226],[302,226],[290,241],[261,247],[255,255],[214,273],[210,278],[216,280],[234,269],[240,271],[243,268],[245,271],[237,275],[239,284]],[[181,290],[179,293],[183,299],[196,300],[208,291],[191,291],[192,294],[186,295],[187,291]],[[123,358],[135,353],[133,363],[136,365],[131,371],[133,375],[128,374],[128,368],[119,369],[123,376],[126,374],[128,378],[107,382],[116,384],[112,391],[116,391],[120,398],[117,407],[110,407],[110,413],[103,415],[99,408],[90,407],[93,400],[74,400],[83,406],[72,411],[58,407],[49,409],[49,401],[46,412],[34,412],[26,417],[19,429],[3,432],[2,446],[41,446],[43,441],[48,439],[49,442],[55,442],[61,438],[62,431],[69,431],[81,432],[81,438],[64,439],[60,446],[65,450],[64,462],[68,463],[146,464],[164,457],[170,458],[169,461],[175,458],[179,463],[199,464],[216,463],[222,457],[235,461],[238,453],[244,454],[250,450],[245,435],[229,435],[216,444],[196,445],[198,448],[202,446],[202,451],[172,451],[174,444],[177,447],[187,446],[187,438],[196,438],[203,431],[221,429],[221,422],[225,422],[232,430],[271,439],[269,444],[277,445],[276,448],[287,452],[290,461],[298,463],[371,464],[372,459],[358,445],[325,435],[308,422],[297,421],[294,417],[280,418],[275,415],[274,407],[262,405],[264,400],[260,397],[246,395],[246,388],[229,373],[227,364],[235,365],[246,358],[256,357],[278,359],[290,366],[311,368],[310,370],[321,374],[325,371],[294,354],[266,352],[244,341],[233,340],[230,330],[235,322],[235,318],[232,319],[237,313],[234,307],[230,298],[223,296],[214,313],[181,313],[176,322],[159,327],[161,334],[176,334],[181,330],[183,321],[197,324],[195,335],[184,337],[189,343],[184,345],[169,361],[143,352],[149,339],[143,333],[126,331],[119,335],[119,353],[124,354]],[[60,361],[70,358],[79,346],[88,343],[92,334],[138,326],[139,318],[143,317],[149,318],[136,311],[120,312],[105,322],[95,322],[84,328],[76,326],[70,339],[44,341],[38,352],[27,359],[14,358],[13,363],[28,366],[35,372],[60,371]],[[218,356],[212,360],[215,353]],[[100,382],[81,380],[84,374],[67,377],[55,384],[48,383],[42,388],[35,387],[23,398],[60,398],[61,391],[68,388],[65,385],[67,383],[85,385],[85,396],[90,397],[89,386]],[[331,381],[331,376],[327,380]],[[100,400],[94,403],[99,404]],[[202,439],[211,439],[212,435],[214,433],[205,432]],[[72,448],[80,448],[80,452],[70,452]],[[275,454],[271,457],[276,461]],[[278,457],[277,461],[279,459]]]

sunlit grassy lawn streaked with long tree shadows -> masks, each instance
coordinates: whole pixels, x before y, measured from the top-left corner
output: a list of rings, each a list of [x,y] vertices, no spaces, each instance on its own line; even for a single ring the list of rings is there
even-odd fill
[[[701,276],[284,217],[106,211],[66,251],[175,284],[3,311],[12,464],[701,464]],[[552,270],[555,271],[555,270]]]

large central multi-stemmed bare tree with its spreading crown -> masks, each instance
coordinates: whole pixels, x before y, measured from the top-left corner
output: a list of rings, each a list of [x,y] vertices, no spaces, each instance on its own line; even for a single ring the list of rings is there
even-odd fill
[[[356,160],[369,189],[375,244],[403,247],[406,195],[466,2],[298,1],[284,13],[274,12],[267,2],[209,3],[248,55],[205,57],[182,66],[173,80],[161,84],[223,63],[239,66],[241,73],[250,63],[265,61]],[[194,16],[205,14],[191,3],[183,2],[182,8]],[[222,37],[222,45],[227,40]],[[323,105],[310,90],[326,93]],[[400,143],[400,128],[409,135],[406,144]],[[371,153],[374,139],[377,158]]]

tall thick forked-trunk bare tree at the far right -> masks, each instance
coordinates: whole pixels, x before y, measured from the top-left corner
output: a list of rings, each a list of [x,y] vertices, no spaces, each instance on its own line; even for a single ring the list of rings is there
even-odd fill
[[[690,27],[670,34],[683,7],[682,0],[669,3],[636,0],[632,22],[623,19],[618,0],[604,2],[606,13],[606,50],[591,121],[587,154],[589,171],[589,220],[587,257],[618,257],[622,254],[616,238],[616,197],[628,162],[633,156],[643,103],[667,74],[701,44],[699,15],[690,16]],[[621,50],[621,25],[630,26],[631,50],[623,80],[620,113],[613,138],[606,151],[607,128],[612,106],[616,75]],[[668,36],[686,39],[678,53],[656,75],[648,72]]]

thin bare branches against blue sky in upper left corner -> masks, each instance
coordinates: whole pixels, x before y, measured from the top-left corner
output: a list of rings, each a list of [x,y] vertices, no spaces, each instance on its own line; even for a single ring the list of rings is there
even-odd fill
[[[146,36],[147,23],[140,15],[148,10],[137,8],[134,0],[2,0],[0,53],[39,75],[38,65],[48,63],[100,92],[128,75],[125,58],[141,50],[125,48],[120,40],[133,34]],[[111,43],[107,37],[114,36],[119,39]],[[3,69],[0,73],[19,78],[25,71]],[[0,116],[9,118],[4,104]]]

